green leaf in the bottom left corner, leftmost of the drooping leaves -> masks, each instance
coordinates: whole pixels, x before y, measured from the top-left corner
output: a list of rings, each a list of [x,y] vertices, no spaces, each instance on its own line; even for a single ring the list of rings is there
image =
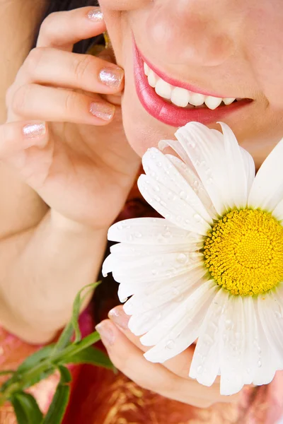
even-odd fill
[[[41,423],[42,412],[31,394],[20,391],[13,394],[10,400],[16,413],[18,424]]]

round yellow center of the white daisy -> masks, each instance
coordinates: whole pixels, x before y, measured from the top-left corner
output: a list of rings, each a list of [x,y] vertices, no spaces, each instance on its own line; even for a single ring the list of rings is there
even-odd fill
[[[204,240],[204,263],[233,295],[259,295],[283,281],[283,227],[270,214],[226,213]]]

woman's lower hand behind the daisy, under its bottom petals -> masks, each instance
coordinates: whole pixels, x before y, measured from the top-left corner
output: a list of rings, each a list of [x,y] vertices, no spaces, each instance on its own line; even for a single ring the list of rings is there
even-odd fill
[[[122,306],[115,307],[107,319],[96,327],[112,363],[144,389],[185,404],[207,408],[216,402],[237,402],[241,394],[220,396],[219,379],[212,387],[204,387],[188,377],[194,347],[167,360],[163,365],[148,362],[139,338],[127,327],[129,316]]]

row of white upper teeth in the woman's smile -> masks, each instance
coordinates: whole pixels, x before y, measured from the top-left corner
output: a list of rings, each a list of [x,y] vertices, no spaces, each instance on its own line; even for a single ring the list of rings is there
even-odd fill
[[[179,107],[187,107],[187,105],[201,106],[205,103],[209,109],[214,110],[222,101],[225,105],[231,105],[236,100],[236,98],[215,98],[212,95],[193,93],[185,88],[171,86],[171,84],[159,78],[145,62],[144,73],[148,78],[149,86],[155,88],[156,94],[164,99],[171,100],[174,105]]]

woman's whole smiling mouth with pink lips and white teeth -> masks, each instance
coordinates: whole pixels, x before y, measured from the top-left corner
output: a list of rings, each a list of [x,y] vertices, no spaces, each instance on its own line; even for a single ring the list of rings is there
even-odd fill
[[[196,121],[209,124],[246,107],[253,100],[215,96],[158,71],[134,42],[134,76],[137,95],[144,109],[159,121],[183,126]]]

